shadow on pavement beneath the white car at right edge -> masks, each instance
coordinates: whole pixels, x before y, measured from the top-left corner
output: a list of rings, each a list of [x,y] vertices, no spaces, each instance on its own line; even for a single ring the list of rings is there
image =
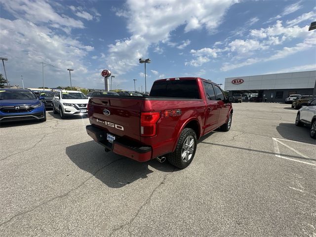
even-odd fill
[[[293,123],[280,123],[276,126],[276,131],[285,139],[316,144],[315,139],[310,137],[310,128],[308,126],[298,127]]]

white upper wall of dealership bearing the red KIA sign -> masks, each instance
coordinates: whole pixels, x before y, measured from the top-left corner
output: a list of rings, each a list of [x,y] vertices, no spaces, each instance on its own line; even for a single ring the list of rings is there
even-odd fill
[[[241,84],[232,80],[243,79]],[[225,90],[270,90],[314,88],[316,71],[278,73],[258,76],[225,78]]]

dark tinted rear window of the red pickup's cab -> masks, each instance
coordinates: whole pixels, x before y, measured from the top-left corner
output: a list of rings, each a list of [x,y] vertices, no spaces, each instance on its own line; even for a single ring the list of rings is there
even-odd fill
[[[196,80],[162,80],[153,84],[150,96],[199,99]]]

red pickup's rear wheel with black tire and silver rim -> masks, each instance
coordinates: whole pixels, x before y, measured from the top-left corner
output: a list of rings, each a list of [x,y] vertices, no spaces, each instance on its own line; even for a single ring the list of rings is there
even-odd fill
[[[185,128],[181,132],[176,150],[167,155],[170,164],[179,169],[184,169],[192,162],[197,151],[197,134],[191,128]]]

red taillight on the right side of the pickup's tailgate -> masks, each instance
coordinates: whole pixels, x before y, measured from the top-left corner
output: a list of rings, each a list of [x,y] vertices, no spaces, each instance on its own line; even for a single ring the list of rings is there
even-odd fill
[[[152,137],[156,135],[156,125],[160,118],[160,112],[143,112],[140,115],[140,135]]]

